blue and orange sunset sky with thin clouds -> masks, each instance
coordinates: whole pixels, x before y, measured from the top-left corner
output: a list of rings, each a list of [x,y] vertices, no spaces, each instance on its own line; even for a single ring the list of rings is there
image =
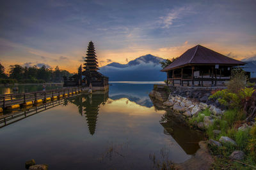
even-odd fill
[[[253,59],[255,9],[255,0],[3,0],[0,62],[6,69],[45,65],[74,73],[89,41],[99,66],[148,53],[172,59],[198,44]]]

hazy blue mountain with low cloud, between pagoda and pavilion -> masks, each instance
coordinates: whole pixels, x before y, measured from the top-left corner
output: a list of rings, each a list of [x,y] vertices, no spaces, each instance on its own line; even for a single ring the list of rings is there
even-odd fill
[[[164,59],[154,55],[143,55],[127,64],[112,62],[100,67],[99,72],[108,76],[109,81],[163,81],[166,73],[161,72]]]

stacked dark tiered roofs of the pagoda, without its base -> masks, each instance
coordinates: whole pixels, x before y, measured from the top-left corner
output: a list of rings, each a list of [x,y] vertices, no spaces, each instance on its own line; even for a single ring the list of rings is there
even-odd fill
[[[86,53],[86,57],[84,60],[84,67],[83,69],[85,69],[85,71],[97,71],[99,70],[99,66],[98,66],[98,62],[97,62],[97,56],[95,55],[95,48],[93,45],[93,42],[90,41],[88,48],[87,48],[87,53]]]

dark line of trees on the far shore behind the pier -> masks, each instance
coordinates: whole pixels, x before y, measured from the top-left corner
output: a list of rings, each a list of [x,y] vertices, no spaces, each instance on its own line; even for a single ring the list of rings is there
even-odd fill
[[[0,83],[47,83],[63,82],[63,76],[72,76],[67,70],[58,66],[54,69],[42,67],[22,67],[18,64],[10,66],[9,74],[4,73],[5,68],[0,63]]]

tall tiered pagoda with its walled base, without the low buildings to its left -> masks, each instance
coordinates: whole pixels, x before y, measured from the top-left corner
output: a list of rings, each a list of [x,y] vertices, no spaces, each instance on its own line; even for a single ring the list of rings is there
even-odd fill
[[[101,73],[98,72],[99,66],[95,53],[96,52],[93,42],[90,41],[84,60],[84,71],[82,73],[83,76],[85,76],[85,78],[83,79],[84,85],[87,87],[108,87],[108,77],[103,76]]]

